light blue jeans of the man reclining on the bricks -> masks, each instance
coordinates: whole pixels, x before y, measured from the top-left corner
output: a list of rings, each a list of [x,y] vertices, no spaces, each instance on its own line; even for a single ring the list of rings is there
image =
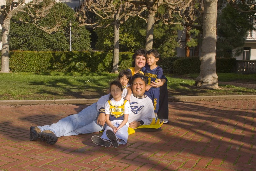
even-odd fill
[[[38,126],[38,128],[41,131],[50,130],[57,137],[89,134],[104,129],[103,126],[97,124],[98,116],[96,103],[93,103],[78,114],[62,118],[52,125]]]

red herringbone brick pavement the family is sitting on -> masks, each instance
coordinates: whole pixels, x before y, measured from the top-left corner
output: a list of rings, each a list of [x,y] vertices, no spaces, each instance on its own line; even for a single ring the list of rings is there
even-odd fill
[[[93,134],[60,137],[54,145],[29,141],[31,125],[85,106],[0,106],[0,170],[256,170],[253,100],[169,102],[163,131],[136,132],[118,148],[93,144]]]

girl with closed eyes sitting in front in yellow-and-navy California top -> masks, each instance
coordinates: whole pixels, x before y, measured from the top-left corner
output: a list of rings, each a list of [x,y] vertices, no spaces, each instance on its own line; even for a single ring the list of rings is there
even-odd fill
[[[123,92],[122,84],[119,81],[110,83],[111,95],[105,103],[106,128],[101,137],[95,135],[92,142],[96,145],[115,148],[119,144],[126,144],[128,139],[128,114],[131,112],[129,102],[121,94]]]

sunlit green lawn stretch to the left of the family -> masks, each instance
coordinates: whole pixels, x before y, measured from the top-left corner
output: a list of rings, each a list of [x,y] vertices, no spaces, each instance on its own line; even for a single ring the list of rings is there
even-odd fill
[[[98,98],[115,78],[110,73],[1,73],[0,100]]]

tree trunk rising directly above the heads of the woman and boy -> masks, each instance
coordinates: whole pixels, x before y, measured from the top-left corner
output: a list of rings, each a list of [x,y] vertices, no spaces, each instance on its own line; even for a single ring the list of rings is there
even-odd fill
[[[145,44],[146,50],[150,50],[153,48],[155,13],[156,13],[155,11],[151,11],[151,10],[148,12],[148,23],[147,23],[146,44]]]

